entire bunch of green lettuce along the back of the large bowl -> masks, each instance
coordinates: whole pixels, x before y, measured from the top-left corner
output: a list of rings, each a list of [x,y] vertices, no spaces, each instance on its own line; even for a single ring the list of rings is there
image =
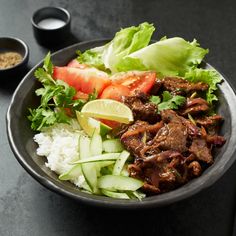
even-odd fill
[[[152,70],[159,77],[181,76],[191,82],[204,82],[209,85],[207,101],[212,104],[217,100],[214,92],[220,75],[215,70],[198,68],[209,50],[195,39],[188,42],[180,37],[163,37],[149,45],[154,30],[147,22],[122,29],[104,46],[79,52],[77,59],[111,74]]]

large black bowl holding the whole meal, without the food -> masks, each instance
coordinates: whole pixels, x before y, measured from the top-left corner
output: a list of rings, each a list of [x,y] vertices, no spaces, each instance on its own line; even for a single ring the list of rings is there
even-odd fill
[[[77,49],[84,51],[106,42],[98,40],[75,44],[54,53],[52,55],[53,63],[59,66],[65,65],[76,57],[75,51]],[[45,166],[45,159],[36,154],[37,145],[33,141],[34,132],[30,129],[30,122],[27,120],[27,108],[35,107],[39,103],[39,99],[34,94],[35,89],[40,86],[34,78],[34,71],[39,66],[42,66],[42,62],[25,76],[13,95],[7,112],[8,139],[17,160],[26,171],[42,185],[59,194],[83,203],[110,208],[138,209],[163,206],[187,198],[209,187],[226,172],[236,158],[236,155],[233,155],[236,149],[236,96],[225,77],[222,76],[223,83],[219,85],[218,113],[225,117],[221,135],[224,135],[227,141],[222,148],[215,151],[214,164],[204,171],[202,176],[176,190],[147,197],[141,202],[111,199],[81,192],[70,182],[58,180],[58,176]],[[205,64],[205,67],[212,68],[209,64]]]

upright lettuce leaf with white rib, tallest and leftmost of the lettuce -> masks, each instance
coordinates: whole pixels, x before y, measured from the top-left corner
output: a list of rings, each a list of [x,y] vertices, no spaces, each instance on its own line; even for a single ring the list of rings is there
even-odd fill
[[[114,39],[101,47],[92,48],[81,53],[78,51],[78,61],[99,69],[117,71],[117,64],[123,57],[146,47],[155,30],[152,24],[144,22],[139,26],[121,29]]]

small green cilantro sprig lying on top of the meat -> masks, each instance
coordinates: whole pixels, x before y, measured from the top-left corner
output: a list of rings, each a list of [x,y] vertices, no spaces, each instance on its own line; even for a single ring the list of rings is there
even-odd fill
[[[186,102],[186,98],[180,95],[173,96],[170,92],[164,91],[162,93],[162,100],[159,96],[151,96],[150,102],[158,107],[158,112],[166,109],[178,109]]]

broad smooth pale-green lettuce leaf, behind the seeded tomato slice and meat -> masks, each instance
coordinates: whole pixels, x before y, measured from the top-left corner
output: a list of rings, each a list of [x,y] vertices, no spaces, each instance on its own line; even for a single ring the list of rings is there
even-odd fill
[[[188,42],[183,38],[163,38],[120,60],[118,71],[155,70],[160,75],[183,76],[190,69],[196,68],[208,53],[208,49],[199,46],[196,40]]]

